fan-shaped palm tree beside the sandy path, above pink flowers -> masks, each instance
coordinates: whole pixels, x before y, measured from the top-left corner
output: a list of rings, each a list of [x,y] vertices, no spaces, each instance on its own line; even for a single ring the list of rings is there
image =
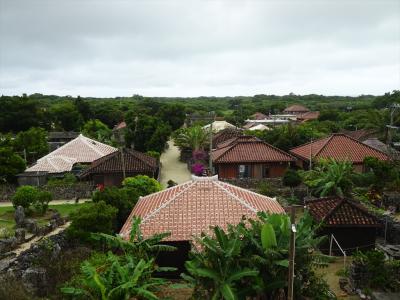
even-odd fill
[[[189,127],[175,138],[175,144],[182,149],[204,150],[210,143],[210,132],[201,126]]]

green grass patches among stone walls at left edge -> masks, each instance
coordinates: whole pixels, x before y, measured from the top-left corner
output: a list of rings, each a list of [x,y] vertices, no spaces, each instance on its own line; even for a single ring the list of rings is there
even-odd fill
[[[85,203],[80,204],[59,204],[59,205],[49,205],[50,209],[57,210],[61,216],[68,216],[71,212],[77,210],[82,205],[87,205]],[[43,216],[32,215],[30,218],[37,220],[40,225],[47,224],[51,218],[52,212],[47,211]],[[0,229],[5,228],[7,231],[12,233],[14,231],[15,221],[14,221],[14,207],[0,207]]]

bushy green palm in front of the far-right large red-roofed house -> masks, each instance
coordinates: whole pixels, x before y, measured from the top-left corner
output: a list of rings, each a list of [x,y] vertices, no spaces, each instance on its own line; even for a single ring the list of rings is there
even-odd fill
[[[314,170],[304,173],[305,183],[320,197],[349,195],[353,182],[353,165],[332,158],[321,160]]]

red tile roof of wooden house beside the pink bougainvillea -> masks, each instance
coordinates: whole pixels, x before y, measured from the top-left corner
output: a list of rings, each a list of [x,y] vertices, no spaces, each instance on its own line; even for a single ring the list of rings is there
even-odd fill
[[[226,142],[211,152],[214,163],[290,162],[294,157],[260,140]]]

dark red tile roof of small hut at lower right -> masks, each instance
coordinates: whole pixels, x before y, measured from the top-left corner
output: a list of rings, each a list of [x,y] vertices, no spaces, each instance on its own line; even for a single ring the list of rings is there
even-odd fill
[[[320,198],[306,202],[317,222],[325,226],[380,226],[377,218],[361,204],[340,198]]]

